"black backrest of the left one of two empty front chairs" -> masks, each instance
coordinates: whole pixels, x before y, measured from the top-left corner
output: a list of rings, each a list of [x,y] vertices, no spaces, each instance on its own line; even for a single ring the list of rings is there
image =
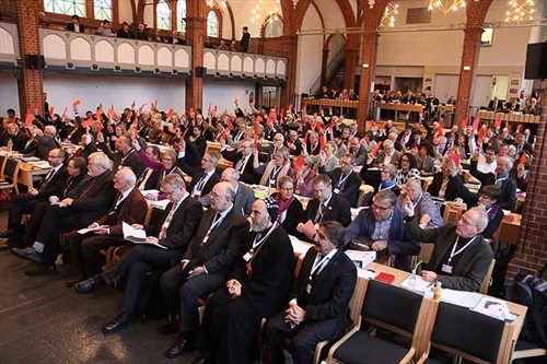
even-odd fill
[[[423,296],[392,284],[370,280],[361,316],[375,325],[397,328],[412,336]],[[385,326],[384,326],[385,327]]]

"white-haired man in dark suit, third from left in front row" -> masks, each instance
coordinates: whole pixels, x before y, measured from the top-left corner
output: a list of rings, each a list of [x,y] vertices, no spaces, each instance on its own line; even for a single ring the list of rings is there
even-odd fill
[[[104,153],[93,153],[88,168],[90,178],[83,191],[78,198],[65,198],[50,206],[47,219],[42,220],[33,247],[11,250],[18,257],[38,262],[37,268],[25,271],[25,274],[57,272],[55,260],[60,251],[59,234],[89,226],[112,206],[116,190],[113,186],[110,160]]]

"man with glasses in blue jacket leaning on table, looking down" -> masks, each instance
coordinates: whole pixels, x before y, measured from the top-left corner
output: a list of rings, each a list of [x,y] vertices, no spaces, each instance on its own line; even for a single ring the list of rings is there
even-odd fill
[[[369,210],[361,210],[346,231],[346,244],[360,236],[370,239],[376,251],[387,249],[395,257],[395,268],[409,270],[409,256],[420,253],[420,245],[405,233],[403,211],[395,207],[397,197],[391,190],[374,196]]]

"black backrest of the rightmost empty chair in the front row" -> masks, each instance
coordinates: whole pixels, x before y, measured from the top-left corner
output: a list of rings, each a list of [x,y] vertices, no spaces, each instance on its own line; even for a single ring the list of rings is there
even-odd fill
[[[476,363],[496,363],[504,328],[503,320],[441,302],[431,344]]]

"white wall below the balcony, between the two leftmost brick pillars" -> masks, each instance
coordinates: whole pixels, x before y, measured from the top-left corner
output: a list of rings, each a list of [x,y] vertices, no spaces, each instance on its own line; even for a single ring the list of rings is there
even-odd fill
[[[71,110],[70,105],[77,98],[82,102],[80,111],[95,110],[100,103],[108,107],[113,104],[116,111],[123,111],[133,99],[137,105],[149,103],[147,108],[151,101],[158,99],[164,110],[172,107],[182,111],[185,105],[185,83],[182,80],[48,73],[44,75],[44,91],[49,105],[57,110],[67,106]],[[3,105],[3,97],[0,103]]]

